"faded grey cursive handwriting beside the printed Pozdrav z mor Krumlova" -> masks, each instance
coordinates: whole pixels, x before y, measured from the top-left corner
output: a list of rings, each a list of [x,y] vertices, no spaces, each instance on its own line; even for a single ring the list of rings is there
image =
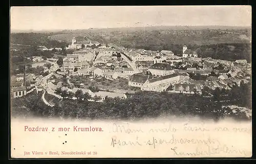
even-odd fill
[[[168,151],[173,157],[250,156],[251,127],[227,123],[159,123],[147,126],[113,123],[112,148],[144,148]],[[240,142],[248,144],[241,145]]]

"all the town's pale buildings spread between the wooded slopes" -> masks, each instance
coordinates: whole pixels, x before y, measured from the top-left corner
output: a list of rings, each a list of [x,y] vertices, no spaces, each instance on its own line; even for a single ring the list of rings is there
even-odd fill
[[[217,60],[212,58],[200,58],[196,51],[190,50],[186,45],[182,48],[182,56],[175,56],[170,50],[147,51],[143,49],[125,49],[118,46],[100,46],[95,49],[87,48],[87,45],[100,45],[99,42],[78,42],[73,37],[69,49],[75,49],[73,54],[67,54],[63,58],[60,68],[55,67],[52,72],[59,69],[59,74],[70,74],[78,76],[104,77],[106,79],[117,79],[118,77],[129,80],[129,86],[138,87],[147,91],[168,91],[174,93],[202,93],[202,88],[207,86],[211,89],[230,89],[233,84],[240,85],[241,82],[248,83],[251,76],[251,65],[246,60],[231,62],[228,60]],[[82,46],[84,45],[84,48]],[[81,49],[81,50],[77,50]],[[124,59],[122,55],[127,56]],[[33,61],[41,61],[41,57],[35,57]],[[48,59],[56,62],[57,59]],[[217,69],[222,65],[223,69]],[[139,71],[135,71],[135,68]],[[211,75],[212,73],[215,76]],[[193,80],[190,74],[207,76],[206,80]],[[40,77],[41,78],[41,77]],[[14,97],[26,95],[29,88],[40,89],[40,78],[31,79],[24,75],[16,75],[11,80],[11,91]],[[26,79],[26,80],[24,80]],[[30,80],[29,80],[30,79]],[[48,83],[48,88],[54,92],[56,88],[62,87],[61,82],[56,85]],[[66,88],[68,89],[68,88]],[[108,97],[126,98],[123,93],[113,92],[91,92],[88,89],[73,88],[69,91],[75,92],[81,89],[88,92],[92,97],[100,96],[101,101]]]

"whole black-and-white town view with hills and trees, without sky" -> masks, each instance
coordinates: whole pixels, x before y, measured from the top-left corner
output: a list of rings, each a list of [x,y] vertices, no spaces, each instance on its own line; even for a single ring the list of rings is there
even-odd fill
[[[250,27],[13,32],[11,114],[251,119]]]

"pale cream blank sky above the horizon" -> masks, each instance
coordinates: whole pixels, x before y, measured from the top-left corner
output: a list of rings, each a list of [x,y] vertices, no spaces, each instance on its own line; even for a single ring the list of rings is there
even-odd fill
[[[251,6],[11,7],[11,30],[251,26]]]

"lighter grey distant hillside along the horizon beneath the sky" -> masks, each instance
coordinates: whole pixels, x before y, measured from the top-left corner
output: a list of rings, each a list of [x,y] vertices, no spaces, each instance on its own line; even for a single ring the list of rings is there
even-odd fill
[[[162,44],[218,44],[249,42],[246,27],[144,27],[63,31],[51,39],[71,42],[72,36],[122,46],[158,46]]]

